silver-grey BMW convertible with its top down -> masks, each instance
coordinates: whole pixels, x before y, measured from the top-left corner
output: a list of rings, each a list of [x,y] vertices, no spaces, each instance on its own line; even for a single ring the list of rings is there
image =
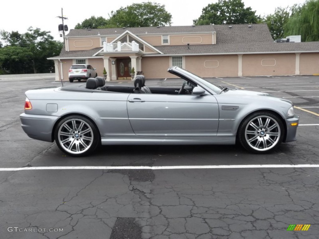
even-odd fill
[[[26,91],[20,115],[26,134],[56,141],[71,156],[102,145],[235,144],[253,153],[269,153],[296,140],[299,117],[292,102],[270,94],[216,86],[184,69],[168,71],[180,86],[86,84]]]

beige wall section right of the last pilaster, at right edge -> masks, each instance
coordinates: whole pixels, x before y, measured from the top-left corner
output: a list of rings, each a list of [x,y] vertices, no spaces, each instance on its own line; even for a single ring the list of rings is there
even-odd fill
[[[301,53],[300,75],[319,74],[319,53]]]

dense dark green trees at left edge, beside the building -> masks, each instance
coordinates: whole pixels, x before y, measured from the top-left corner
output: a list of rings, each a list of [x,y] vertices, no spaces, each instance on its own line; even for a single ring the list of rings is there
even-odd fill
[[[54,72],[54,62],[47,58],[59,55],[63,43],[49,33],[32,27],[24,34],[2,30],[0,37],[6,45],[0,48],[0,74]]]

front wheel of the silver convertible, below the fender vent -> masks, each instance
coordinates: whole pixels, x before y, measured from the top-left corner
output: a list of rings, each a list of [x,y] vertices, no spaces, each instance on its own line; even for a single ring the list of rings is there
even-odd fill
[[[285,129],[280,118],[271,112],[256,112],[241,123],[238,139],[241,145],[256,154],[270,153],[283,141]]]

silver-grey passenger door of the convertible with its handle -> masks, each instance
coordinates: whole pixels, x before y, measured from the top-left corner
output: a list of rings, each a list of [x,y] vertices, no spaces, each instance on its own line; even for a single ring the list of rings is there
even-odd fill
[[[213,95],[130,94],[130,124],[138,136],[215,136],[219,109]]]

